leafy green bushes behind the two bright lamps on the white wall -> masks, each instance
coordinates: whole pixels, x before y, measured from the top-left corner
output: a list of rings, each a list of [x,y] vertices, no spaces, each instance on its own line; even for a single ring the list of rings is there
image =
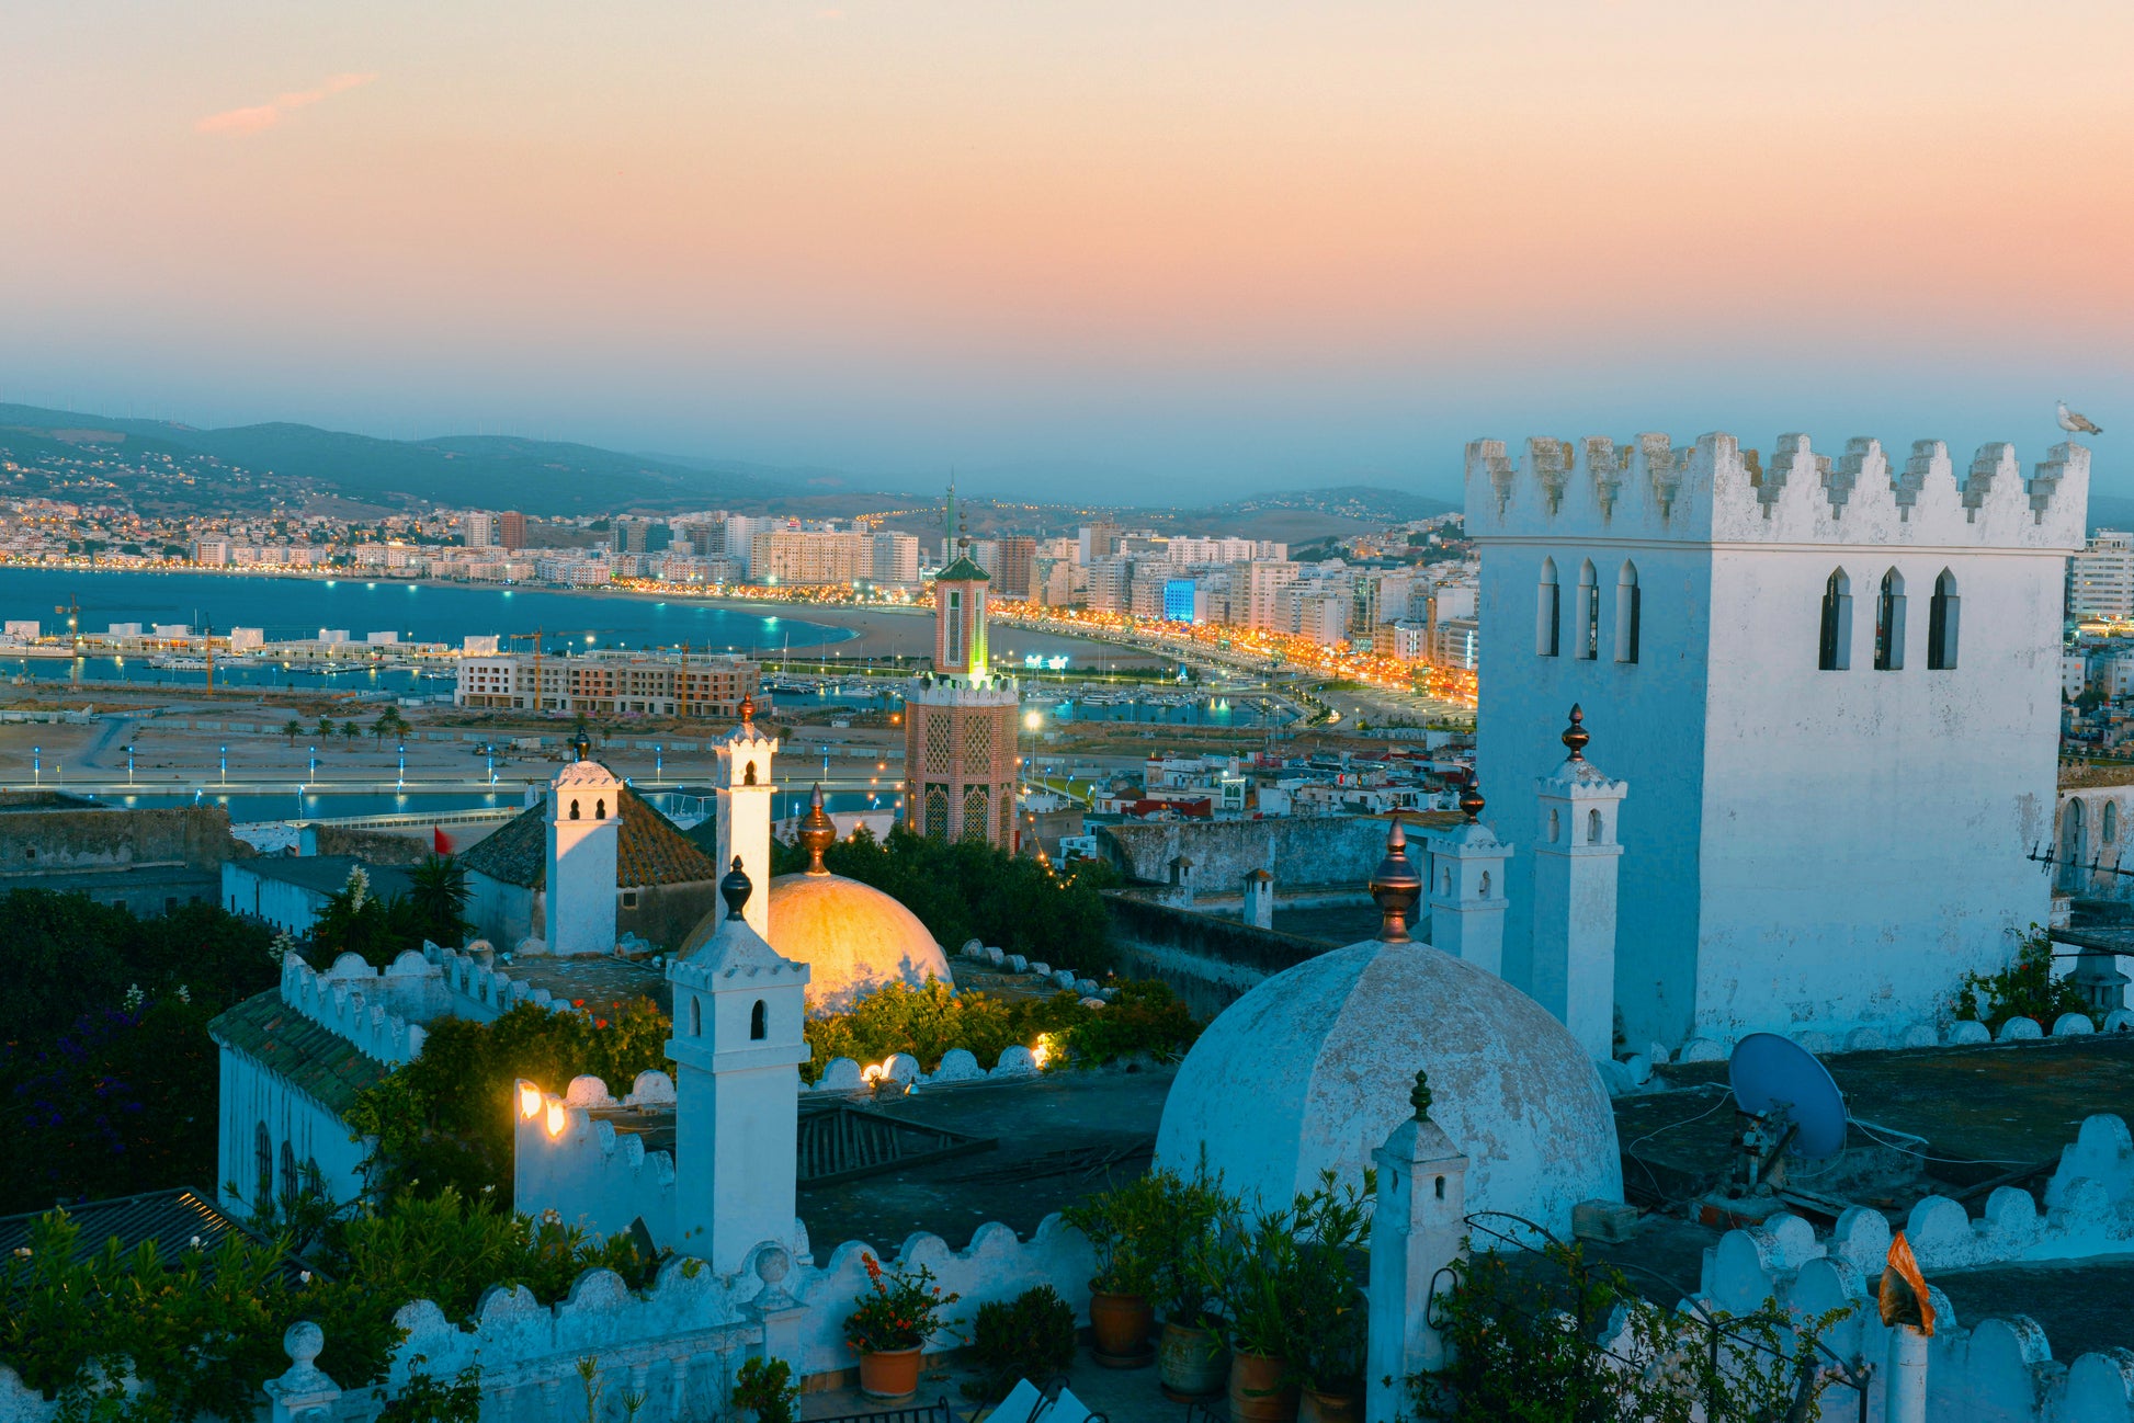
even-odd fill
[[[440,1018],[423,1056],[365,1088],[348,1124],[378,1139],[388,1190],[484,1190],[510,1199],[514,1084],[561,1092],[593,1075],[619,1092],[642,1071],[666,1071],[668,1016],[651,998],[615,1018],[555,1013],[521,1003],[495,1022]]]

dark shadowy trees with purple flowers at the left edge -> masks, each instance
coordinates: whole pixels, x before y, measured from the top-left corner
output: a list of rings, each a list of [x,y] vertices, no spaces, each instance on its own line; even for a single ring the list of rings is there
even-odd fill
[[[0,1212],[207,1184],[207,1020],[275,984],[271,930],[213,905],[137,920],[49,890],[0,896]]]

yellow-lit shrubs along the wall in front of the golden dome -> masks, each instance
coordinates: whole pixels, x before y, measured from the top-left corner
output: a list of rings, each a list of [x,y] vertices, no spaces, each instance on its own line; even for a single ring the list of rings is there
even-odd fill
[[[1133,1052],[1184,1052],[1195,1037],[1199,1024],[1159,981],[1122,984],[1110,1005],[1084,1007],[1071,992],[999,998],[928,979],[924,988],[886,984],[849,1013],[811,1018],[811,1058],[802,1071],[815,1082],[832,1058],[881,1062],[892,1052],[909,1052],[922,1071],[933,1071],[950,1048],[965,1048],[980,1067],[992,1067],[1005,1048],[1037,1048],[1039,1039],[1054,1062],[1093,1067]]]

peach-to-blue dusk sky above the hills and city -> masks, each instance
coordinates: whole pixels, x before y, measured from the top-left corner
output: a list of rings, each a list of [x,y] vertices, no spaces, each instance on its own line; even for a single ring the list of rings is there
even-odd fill
[[[0,401],[1024,497],[1481,435],[2134,495],[2123,0],[9,0]]]

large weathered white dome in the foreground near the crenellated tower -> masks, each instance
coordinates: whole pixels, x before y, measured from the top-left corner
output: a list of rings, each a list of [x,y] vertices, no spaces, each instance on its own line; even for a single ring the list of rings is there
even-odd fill
[[[1157,1133],[1157,1165],[1208,1165],[1246,1199],[1287,1205],[1334,1167],[1359,1180],[1413,1116],[1466,1152],[1468,1210],[1551,1231],[1571,1208],[1622,1199],[1615,1114],[1577,1039],[1500,977],[1428,943],[1366,941],[1255,986],[1187,1054]]]

